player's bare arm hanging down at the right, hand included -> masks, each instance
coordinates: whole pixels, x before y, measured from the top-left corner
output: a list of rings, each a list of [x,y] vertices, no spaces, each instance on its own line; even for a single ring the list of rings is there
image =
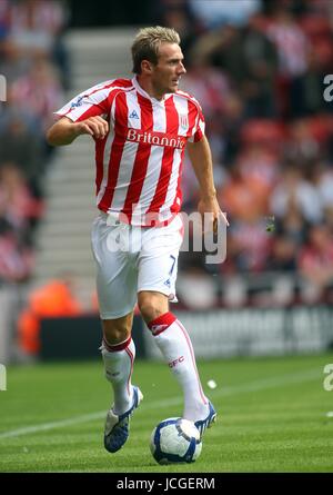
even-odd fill
[[[198,211],[201,215],[205,212],[212,214],[214,225],[219,219],[223,219],[229,225],[216,199],[212,154],[206,137],[203,135],[202,139],[196,142],[188,141],[188,152],[199,182],[200,200]]]

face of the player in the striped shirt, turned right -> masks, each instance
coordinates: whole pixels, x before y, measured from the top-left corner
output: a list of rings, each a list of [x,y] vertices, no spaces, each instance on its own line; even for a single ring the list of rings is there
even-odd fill
[[[183,66],[183,53],[176,43],[162,43],[159,61],[152,66],[152,85],[158,95],[175,92],[181,76],[186,72]]]

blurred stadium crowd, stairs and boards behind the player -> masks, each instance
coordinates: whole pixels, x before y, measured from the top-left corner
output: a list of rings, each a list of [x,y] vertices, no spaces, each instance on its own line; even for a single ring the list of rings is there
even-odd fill
[[[205,264],[204,253],[180,258],[174,310],[196,355],[332,348],[333,88],[324,78],[333,75],[333,2],[95,6],[0,0],[0,363],[99,358],[93,147],[82,137],[53,149],[44,132],[78,92],[130,77],[137,29],[158,23],[182,37],[182,87],[202,103],[231,224],[223,264]],[[192,212],[189,164],[183,191]],[[157,357],[141,326],[137,316],[139,354]]]

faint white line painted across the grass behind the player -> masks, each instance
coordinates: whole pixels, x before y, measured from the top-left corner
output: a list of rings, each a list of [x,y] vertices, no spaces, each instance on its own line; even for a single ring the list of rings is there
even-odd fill
[[[321,375],[320,375],[320,372],[317,368],[310,369],[306,372],[297,372],[297,373],[289,374],[289,375],[281,375],[281,376],[276,376],[273,378],[264,378],[264,379],[260,379],[256,382],[252,382],[250,384],[225,387],[220,390],[218,389],[218,390],[211,392],[210,396],[212,396],[212,398],[213,398],[213,397],[225,397],[225,396],[235,395],[235,394],[245,394],[249,392],[262,390],[265,388],[275,388],[275,387],[280,387],[283,385],[310,382],[316,377],[319,379],[321,379]],[[168,406],[175,406],[178,404],[181,404],[182,400],[183,400],[182,397],[173,397],[173,398],[169,398],[169,399],[164,399],[164,400],[155,400],[153,403],[145,403],[145,404],[143,403],[142,406],[140,406],[140,409],[138,409],[138,413],[140,413],[142,410],[144,412],[145,409],[153,409],[154,407],[161,408],[161,407],[168,407]],[[103,412],[100,410],[98,413],[85,414],[83,416],[75,416],[72,418],[62,419],[62,420],[58,420],[58,422],[43,423],[43,424],[36,425],[36,426],[27,426],[23,428],[12,429],[11,432],[1,433],[0,440],[2,440],[4,438],[21,436],[21,435],[29,435],[30,433],[47,432],[49,429],[62,428],[65,426],[78,425],[80,423],[89,423],[94,419],[104,418],[105,414],[107,414],[105,410],[103,410]]]

